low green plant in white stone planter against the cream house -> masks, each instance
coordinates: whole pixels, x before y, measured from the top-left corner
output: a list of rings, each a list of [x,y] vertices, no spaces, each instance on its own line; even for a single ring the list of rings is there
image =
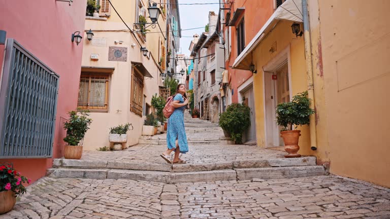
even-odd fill
[[[127,134],[126,132],[130,130],[130,127],[132,127],[133,130],[133,125],[130,123],[126,123],[124,125],[118,125],[115,127],[110,128],[110,134],[108,135],[109,141],[112,144],[112,147],[110,145],[110,148],[112,150],[121,150],[121,149],[126,149],[126,142],[127,142]]]

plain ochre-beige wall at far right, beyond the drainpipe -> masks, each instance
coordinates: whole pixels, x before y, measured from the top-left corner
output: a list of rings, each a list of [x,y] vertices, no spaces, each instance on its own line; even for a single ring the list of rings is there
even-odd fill
[[[319,1],[330,171],[390,187],[390,1],[374,2]]]

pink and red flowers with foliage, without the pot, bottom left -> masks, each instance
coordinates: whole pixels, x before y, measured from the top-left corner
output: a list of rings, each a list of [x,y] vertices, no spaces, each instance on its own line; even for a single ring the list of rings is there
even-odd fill
[[[29,184],[31,179],[20,175],[12,164],[0,165],[0,192],[11,190],[15,195],[20,196],[26,193],[26,188],[23,186],[25,182]]]

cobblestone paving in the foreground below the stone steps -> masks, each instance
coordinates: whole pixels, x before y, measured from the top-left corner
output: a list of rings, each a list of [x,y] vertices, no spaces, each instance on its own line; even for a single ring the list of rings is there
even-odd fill
[[[174,185],[44,177],[0,218],[390,218],[390,190],[332,175]]]

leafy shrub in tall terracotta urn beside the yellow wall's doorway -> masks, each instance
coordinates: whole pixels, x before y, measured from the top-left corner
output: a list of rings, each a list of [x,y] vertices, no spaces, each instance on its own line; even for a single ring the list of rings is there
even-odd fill
[[[277,105],[276,121],[278,125],[283,126],[280,134],[284,141],[284,150],[288,153],[284,157],[301,157],[301,155],[297,154],[301,130],[293,130],[293,126],[298,128],[298,125],[308,125],[309,117],[314,113],[314,109],[310,108],[310,99],[307,97],[307,91],[295,95],[290,102]]]

